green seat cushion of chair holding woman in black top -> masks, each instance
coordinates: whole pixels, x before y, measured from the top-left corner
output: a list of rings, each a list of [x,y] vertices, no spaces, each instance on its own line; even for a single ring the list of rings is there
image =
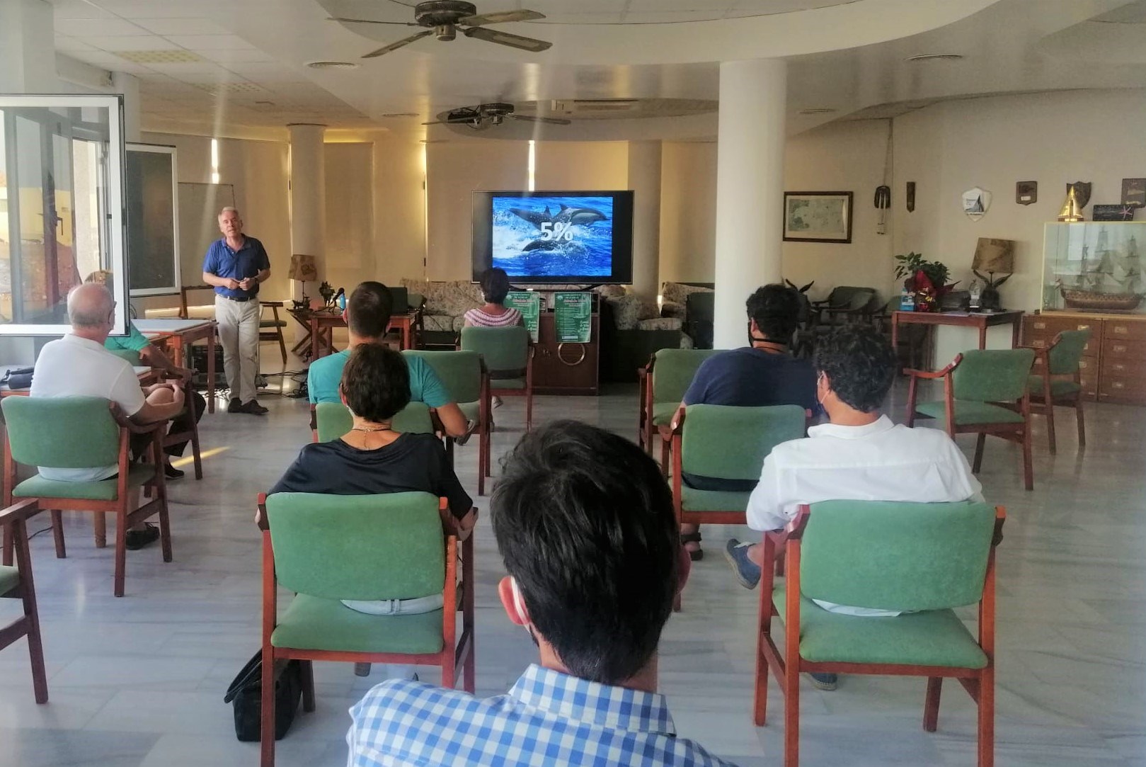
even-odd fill
[[[335,652],[441,652],[442,611],[368,616],[338,600],[297,595],[270,635],[274,647]]]

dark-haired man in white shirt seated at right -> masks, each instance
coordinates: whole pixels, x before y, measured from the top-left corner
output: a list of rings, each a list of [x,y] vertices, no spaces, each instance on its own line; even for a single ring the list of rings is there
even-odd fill
[[[764,459],[760,483],[748,500],[748,526],[778,530],[801,503],[817,501],[981,501],[979,480],[951,438],[937,429],[909,429],[879,414],[898,368],[887,338],[868,326],[840,328],[816,346],[816,398],[829,423],[803,439],[777,445]],[[760,582],[763,548],[735,538],[724,548],[745,588]],[[896,616],[816,600],[831,612]],[[835,674],[813,674],[822,689]]]

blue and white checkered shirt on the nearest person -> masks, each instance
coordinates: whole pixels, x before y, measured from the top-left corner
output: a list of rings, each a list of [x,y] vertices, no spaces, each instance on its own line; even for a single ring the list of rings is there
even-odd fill
[[[353,709],[347,767],[720,767],[676,737],[665,697],[531,665],[508,695],[390,680]]]

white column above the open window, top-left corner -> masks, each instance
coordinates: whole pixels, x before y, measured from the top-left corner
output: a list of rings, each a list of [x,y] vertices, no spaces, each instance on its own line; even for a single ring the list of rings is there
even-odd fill
[[[0,93],[57,89],[52,5],[45,0],[0,0]]]

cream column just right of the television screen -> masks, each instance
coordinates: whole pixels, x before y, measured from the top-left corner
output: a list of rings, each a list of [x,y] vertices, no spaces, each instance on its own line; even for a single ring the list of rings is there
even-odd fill
[[[660,292],[660,141],[629,142],[633,190],[633,292],[650,302]]]

